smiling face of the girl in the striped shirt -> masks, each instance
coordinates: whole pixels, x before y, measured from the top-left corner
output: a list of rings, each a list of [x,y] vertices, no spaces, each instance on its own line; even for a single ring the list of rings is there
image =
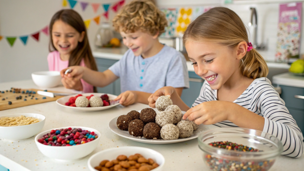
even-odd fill
[[[232,75],[240,75],[237,51],[218,43],[198,43],[187,40],[185,47],[194,71],[205,79],[212,89],[219,89]]]

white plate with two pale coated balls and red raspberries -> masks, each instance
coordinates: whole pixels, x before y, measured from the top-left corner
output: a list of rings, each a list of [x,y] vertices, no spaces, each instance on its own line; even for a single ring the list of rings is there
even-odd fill
[[[56,103],[78,111],[98,111],[119,105],[119,100],[114,101],[116,97],[104,93],[83,93],[62,97],[57,99]]]

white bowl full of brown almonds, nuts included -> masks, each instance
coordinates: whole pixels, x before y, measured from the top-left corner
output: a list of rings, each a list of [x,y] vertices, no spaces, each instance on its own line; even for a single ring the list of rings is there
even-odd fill
[[[91,171],[161,171],[164,163],[164,156],[150,148],[119,147],[92,155],[88,167]]]

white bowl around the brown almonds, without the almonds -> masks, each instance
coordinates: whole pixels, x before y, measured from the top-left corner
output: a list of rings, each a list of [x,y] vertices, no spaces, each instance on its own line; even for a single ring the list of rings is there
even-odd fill
[[[144,147],[118,147],[118,148],[110,148],[107,150],[102,150],[101,152],[98,152],[94,155],[92,155],[88,160],[88,167],[91,171],[97,171],[94,169],[96,166],[99,166],[99,163],[102,160],[114,160],[119,155],[134,155],[134,154],[141,154],[146,159],[153,159],[154,162],[156,162],[159,166],[153,171],[162,171],[165,163],[165,158],[161,153],[152,150],[150,148],[144,148]]]

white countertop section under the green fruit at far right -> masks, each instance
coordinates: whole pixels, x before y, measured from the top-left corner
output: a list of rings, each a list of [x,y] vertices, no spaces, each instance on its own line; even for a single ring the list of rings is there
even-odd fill
[[[277,85],[287,85],[304,88],[304,76],[283,73],[272,77],[272,82]]]

